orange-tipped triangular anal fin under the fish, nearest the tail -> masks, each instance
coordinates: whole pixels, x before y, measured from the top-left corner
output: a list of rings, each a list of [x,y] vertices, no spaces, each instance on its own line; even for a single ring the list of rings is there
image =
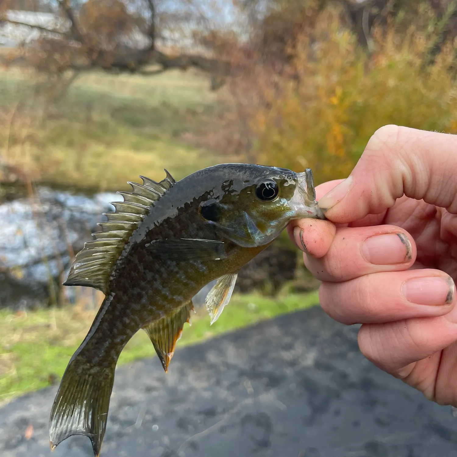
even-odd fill
[[[175,352],[176,342],[181,338],[184,323],[190,323],[193,309],[192,302],[187,302],[165,317],[143,327],[154,345],[165,372],[168,371],[168,365]]]

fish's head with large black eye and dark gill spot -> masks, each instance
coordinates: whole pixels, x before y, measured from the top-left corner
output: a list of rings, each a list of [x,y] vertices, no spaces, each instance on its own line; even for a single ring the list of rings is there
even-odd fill
[[[234,165],[234,164],[233,164]],[[320,218],[310,169],[303,173],[261,165],[228,168],[214,198],[200,205],[200,214],[221,237],[243,247],[273,241],[292,219]],[[233,177],[230,176],[233,173]]]

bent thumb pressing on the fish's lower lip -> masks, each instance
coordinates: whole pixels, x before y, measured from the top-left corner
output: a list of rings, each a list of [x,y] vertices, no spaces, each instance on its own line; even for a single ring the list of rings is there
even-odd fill
[[[457,136],[387,125],[351,175],[319,200],[325,216],[349,223],[379,214],[406,195],[457,213]]]

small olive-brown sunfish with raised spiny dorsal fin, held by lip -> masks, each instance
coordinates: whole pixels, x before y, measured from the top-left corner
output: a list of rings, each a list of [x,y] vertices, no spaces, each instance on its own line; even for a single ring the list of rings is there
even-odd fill
[[[310,169],[221,164],[180,181],[165,174],[159,182],[140,176],[142,184],[118,192],[123,202],[112,202],[115,211],[103,213],[101,231],[70,266],[65,286],[94,287],[105,298],[61,379],[49,419],[51,450],[84,435],[98,457],[128,340],[143,329],[167,372],[203,287],[215,281],[205,299],[213,324],[242,266],[293,219],[325,218]]]

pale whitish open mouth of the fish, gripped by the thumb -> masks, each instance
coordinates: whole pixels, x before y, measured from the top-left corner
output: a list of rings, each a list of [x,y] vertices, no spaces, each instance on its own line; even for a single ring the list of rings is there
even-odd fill
[[[292,219],[314,218],[325,219],[324,213],[316,201],[313,173],[307,168],[303,173],[297,173],[298,185],[289,205],[294,211]]]

